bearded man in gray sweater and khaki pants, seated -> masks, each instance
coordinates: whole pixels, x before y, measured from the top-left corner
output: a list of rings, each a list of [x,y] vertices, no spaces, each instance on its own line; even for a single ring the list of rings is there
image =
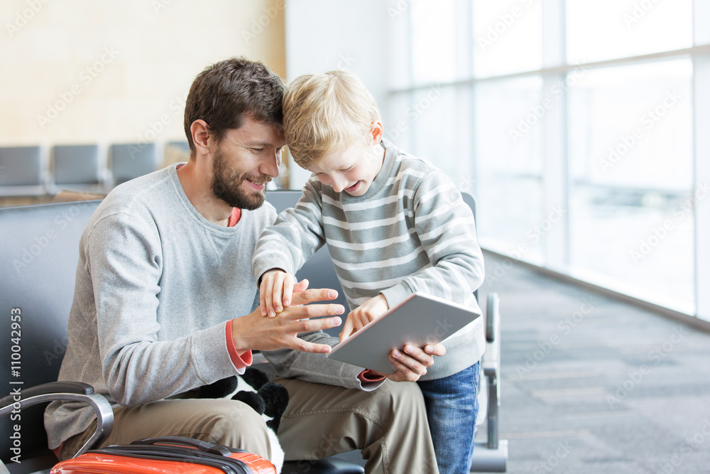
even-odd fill
[[[415,384],[370,381],[362,368],[335,361],[339,377],[307,374],[312,357],[322,363],[337,343],[320,330],[342,322],[310,318],[342,306],[292,306],[276,319],[258,310],[251,256],[275,219],[263,202],[284,145],[282,97],[283,82],[249,60],[225,60],[196,77],[185,105],[190,160],[116,187],[84,230],[59,378],[92,384],[112,402],[104,446],[192,436],[270,458],[266,424],[249,406],[184,394],[243,372],[251,350],[280,350],[279,374],[301,378],[282,381],[290,394],[279,429],[286,459],[359,448],[371,473],[435,473]],[[295,286],[294,305],[337,296],[306,285]],[[431,355],[413,355],[401,355],[398,379],[415,380],[432,365]],[[50,404],[50,448],[72,456],[92,421],[80,404]]]

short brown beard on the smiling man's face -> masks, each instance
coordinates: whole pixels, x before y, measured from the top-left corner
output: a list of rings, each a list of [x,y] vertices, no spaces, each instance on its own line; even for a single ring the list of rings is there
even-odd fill
[[[240,175],[236,171],[226,168],[226,160],[221,149],[214,153],[212,164],[212,193],[216,198],[223,200],[233,208],[255,210],[261,207],[266,199],[266,185],[263,191],[246,193],[241,188],[244,180],[251,178],[253,183],[268,183],[271,176],[267,175]]]

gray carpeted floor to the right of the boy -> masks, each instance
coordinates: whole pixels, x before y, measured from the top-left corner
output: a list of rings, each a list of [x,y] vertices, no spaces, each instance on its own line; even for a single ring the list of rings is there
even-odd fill
[[[504,267],[480,294],[501,298],[508,473],[710,473],[710,334]]]

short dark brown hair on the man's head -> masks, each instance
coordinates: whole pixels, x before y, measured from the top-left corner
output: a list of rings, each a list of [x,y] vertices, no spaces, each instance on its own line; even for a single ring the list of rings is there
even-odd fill
[[[207,122],[217,143],[225,131],[238,129],[245,116],[283,131],[283,92],[283,80],[262,63],[230,58],[208,66],[195,77],[185,102],[190,153],[197,151],[190,133],[197,119]]]

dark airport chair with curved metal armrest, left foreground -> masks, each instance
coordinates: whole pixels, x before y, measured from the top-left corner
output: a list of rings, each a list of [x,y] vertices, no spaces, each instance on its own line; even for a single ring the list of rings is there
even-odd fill
[[[52,400],[86,402],[94,408],[101,422],[86,448],[96,446],[113,426],[110,405],[102,395],[94,394],[92,387],[55,382],[67,348],[79,239],[100,202],[0,209],[0,268],[4,270],[0,274],[0,311],[6,315],[10,339],[9,344],[0,345],[0,364],[10,367],[0,371],[0,473],[4,472],[3,463],[11,474],[48,473],[57,463],[47,447],[43,424],[45,406]],[[13,316],[18,316],[16,321]],[[14,328],[12,323],[16,323]],[[13,330],[17,333],[11,333]],[[14,389],[20,389],[21,402],[13,396]],[[21,431],[14,430],[16,424]],[[17,443],[13,438],[16,432],[21,437]],[[15,456],[21,463],[13,462]],[[327,459],[291,461],[282,472],[358,474],[364,470],[344,460]]]

